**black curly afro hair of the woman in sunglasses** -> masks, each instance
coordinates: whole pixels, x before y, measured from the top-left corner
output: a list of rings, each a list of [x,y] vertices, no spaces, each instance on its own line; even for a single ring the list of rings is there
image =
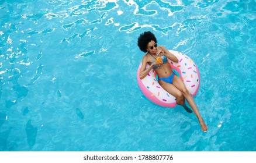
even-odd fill
[[[140,37],[138,38],[138,47],[141,51],[147,52],[147,44],[152,40],[157,43],[157,38],[155,38],[154,34],[151,33],[151,31],[146,31],[140,34]]]

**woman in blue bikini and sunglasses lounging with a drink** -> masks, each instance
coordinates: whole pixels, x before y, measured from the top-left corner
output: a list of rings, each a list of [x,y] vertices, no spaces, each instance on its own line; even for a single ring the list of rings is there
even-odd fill
[[[177,98],[178,105],[184,107],[187,112],[192,112],[192,110],[189,109],[185,104],[186,99],[189,106],[195,112],[203,132],[206,132],[207,126],[205,122],[203,122],[192,95],[186,89],[183,81],[177,75],[175,75],[167,62],[167,58],[171,59],[173,62],[178,62],[178,58],[171,54],[171,52],[169,52],[164,46],[157,46],[157,38],[155,38],[154,34],[150,31],[140,34],[140,37],[138,38],[138,46],[141,51],[147,52],[141,62],[140,79],[146,77],[150,70],[154,69],[155,72],[157,72],[158,82],[162,88]],[[156,62],[159,55],[162,57],[161,63]],[[148,69],[146,69],[147,63],[150,65]]]

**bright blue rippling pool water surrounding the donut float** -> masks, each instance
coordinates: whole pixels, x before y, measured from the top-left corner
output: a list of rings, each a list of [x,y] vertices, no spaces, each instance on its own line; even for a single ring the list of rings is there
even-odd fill
[[[0,1],[1,151],[255,151],[256,2]],[[198,65],[195,102],[141,93],[137,37]]]

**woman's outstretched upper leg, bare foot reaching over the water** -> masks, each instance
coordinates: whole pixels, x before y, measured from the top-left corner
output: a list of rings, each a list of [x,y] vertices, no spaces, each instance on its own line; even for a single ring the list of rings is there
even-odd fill
[[[203,122],[203,118],[202,118],[202,116],[200,115],[200,113],[198,111],[198,107],[196,107],[196,103],[193,100],[192,95],[189,93],[188,89],[186,88],[184,82],[177,75],[174,75],[174,79],[172,81],[172,84],[174,84],[174,86],[177,87],[178,90],[180,90],[182,92],[182,94],[184,95],[186,101],[188,101],[189,106],[195,112],[195,115],[198,118],[198,121],[199,121],[199,123],[201,125],[201,128],[202,128],[203,132],[206,132],[208,128],[205,125],[205,122]]]

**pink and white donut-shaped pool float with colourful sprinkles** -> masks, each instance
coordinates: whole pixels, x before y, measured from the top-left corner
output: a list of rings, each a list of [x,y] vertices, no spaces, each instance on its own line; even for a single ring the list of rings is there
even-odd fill
[[[198,93],[200,85],[200,75],[198,67],[187,55],[178,51],[169,50],[178,58],[178,63],[168,59],[168,63],[174,72],[177,72],[183,80],[189,93],[194,97]],[[146,69],[150,65],[147,64]],[[152,102],[162,107],[174,108],[177,105],[176,98],[169,94],[160,86],[157,80],[157,73],[152,69],[146,77],[140,79],[140,68],[137,70],[137,82],[142,93]]]

